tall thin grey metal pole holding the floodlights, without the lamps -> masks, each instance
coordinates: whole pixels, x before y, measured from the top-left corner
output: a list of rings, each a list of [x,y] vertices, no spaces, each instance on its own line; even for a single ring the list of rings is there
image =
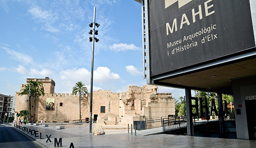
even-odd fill
[[[93,13],[93,48],[92,48],[92,69],[91,69],[91,87],[90,87],[90,133],[92,133],[92,113],[93,113],[93,57],[94,57],[94,34],[95,34],[95,14],[96,7]]]

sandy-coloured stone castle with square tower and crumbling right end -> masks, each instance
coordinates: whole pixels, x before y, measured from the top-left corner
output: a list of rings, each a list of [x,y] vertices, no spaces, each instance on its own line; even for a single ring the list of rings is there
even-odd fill
[[[45,95],[36,98],[36,105],[31,97],[31,111],[35,107],[35,121],[45,122],[77,122],[79,120],[79,96],[54,93],[55,82],[45,79],[26,79],[43,83]],[[20,86],[20,90],[26,84]],[[16,92],[15,112],[27,110],[28,96],[19,96]],[[54,110],[46,110],[47,99],[55,100]],[[81,116],[83,121],[90,117],[90,93],[81,101]],[[112,93],[111,90],[93,91],[93,120],[105,124],[133,124],[154,117],[170,117],[175,115],[175,100],[171,93],[157,93],[157,86],[128,86],[126,92]]]

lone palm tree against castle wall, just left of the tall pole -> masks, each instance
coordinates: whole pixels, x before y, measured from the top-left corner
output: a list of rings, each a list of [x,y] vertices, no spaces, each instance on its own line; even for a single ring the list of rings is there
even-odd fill
[[[88,94],[88,90],[87,90],[87,87],[85,87],[85,85],[80,81],[80,82],[77,82],[75,87],[73,87],[73,91],[72,91],[72,94],[77,94],[79,93],[79,123],[81,122],[81,97],[82,97],[82,94]]]

